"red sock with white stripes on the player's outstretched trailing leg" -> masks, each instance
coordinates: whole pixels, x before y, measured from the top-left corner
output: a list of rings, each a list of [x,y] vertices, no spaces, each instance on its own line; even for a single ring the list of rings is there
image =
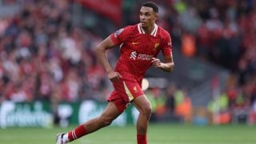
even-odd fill
[[[81,138],[84,135],[86,135],[86,129],[82,124],[69,132],[68,134],[69,142],[74,141],[75,139]]]

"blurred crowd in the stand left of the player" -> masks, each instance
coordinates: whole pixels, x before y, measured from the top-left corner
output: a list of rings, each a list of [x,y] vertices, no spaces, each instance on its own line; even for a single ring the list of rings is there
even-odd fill
[[[1,101],[104,100],[108,81],[94,54],[102,38],[72,26],[71,6],[26,1],[19,14],[1,19]]]

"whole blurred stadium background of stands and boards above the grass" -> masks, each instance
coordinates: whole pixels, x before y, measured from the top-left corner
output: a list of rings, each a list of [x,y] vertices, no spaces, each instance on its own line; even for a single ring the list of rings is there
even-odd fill
[[[0,127],[69,126],[101,114],[113,87],[94,48],[139,22],[144,0],[0,0]],[[162,0],[175,68],[150,68],[151,122],[256,123],[256,1]],[[108,51],[111,65],[118,48]],[[161,58],[162,55],[159,55]],[[136,122],[130,106],[114,125]]]

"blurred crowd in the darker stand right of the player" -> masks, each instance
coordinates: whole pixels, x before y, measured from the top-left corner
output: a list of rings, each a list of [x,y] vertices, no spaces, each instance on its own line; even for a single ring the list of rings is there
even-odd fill
[[[225,116],[227,112],[227,122],[232,117],[250,115],[249,121],[255,123],[256,1],[154,2],[160,6],[158,25],[170,31],[174,48],[188,58],[199,58],[230,70],[225,90],[209,103],[210,113],[221,111],[219,115],[223,112]],[[134,23],[138,21],[134,17],[138,7],[129,6],[124,14],[128,23]],[[130,17],[130,13],[134,14]]]

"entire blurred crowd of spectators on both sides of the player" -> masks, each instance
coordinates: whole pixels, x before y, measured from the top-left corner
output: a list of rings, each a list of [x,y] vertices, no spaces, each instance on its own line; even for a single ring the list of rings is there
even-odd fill
[[[138,22],[142,2],[123,0],[122,26]],[[174,48],[186,57],[229,69],[226,90],[221,92],[228,99],[227,109],[254,107],[251,117],[255,117],[256,1],[156,2],[160,6],[158,25],[170,31]],[[0,102],[105,101],[111,86],[94,54],[103,34],[95,34],[86,26],[74,26],[73,3],[24,1],[20,13],[0,18]],[[116,26],[116,30],[122,26]],[[109,51],[111,64],[117,57]],[[155,96],[161,95],[158,90],[152,88],[146,93],[154,96],[152,102],[158,115],[168,111],[189,119],[191,102],[184,90],[170,84],[161,90],[160,100]],[[174,98],[174,94],[178,96]],[[182,108],[178,107],[180,103],[184,104]]]

